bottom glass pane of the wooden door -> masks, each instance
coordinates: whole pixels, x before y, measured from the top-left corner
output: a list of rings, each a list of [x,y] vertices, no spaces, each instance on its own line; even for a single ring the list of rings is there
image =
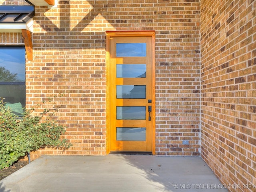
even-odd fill
[[[145,127],[117,127],[116,140],[146,141],[146,128]]]

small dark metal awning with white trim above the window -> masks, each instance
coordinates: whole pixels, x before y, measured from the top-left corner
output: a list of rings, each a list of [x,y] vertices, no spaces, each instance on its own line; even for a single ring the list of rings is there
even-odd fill
[[[0,6],[0,32],[33,32],[34,6]]]

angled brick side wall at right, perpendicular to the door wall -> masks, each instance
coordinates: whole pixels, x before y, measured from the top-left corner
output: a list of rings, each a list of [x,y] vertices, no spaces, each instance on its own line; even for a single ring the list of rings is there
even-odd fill
[[[201,1],[202,158],[225,184],[256,184],[256,1]]]

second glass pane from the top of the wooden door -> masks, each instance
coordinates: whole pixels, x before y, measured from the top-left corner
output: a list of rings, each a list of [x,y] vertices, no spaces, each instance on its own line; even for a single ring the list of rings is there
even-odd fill
[[[146,77],[146,64],[117,64],[117,78],[141,78]]]

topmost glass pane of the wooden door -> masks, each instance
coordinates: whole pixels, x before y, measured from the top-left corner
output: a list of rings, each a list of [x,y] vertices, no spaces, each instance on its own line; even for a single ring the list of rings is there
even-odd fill
[[[117,57],[146,57],[146,43],[117,43]]]

